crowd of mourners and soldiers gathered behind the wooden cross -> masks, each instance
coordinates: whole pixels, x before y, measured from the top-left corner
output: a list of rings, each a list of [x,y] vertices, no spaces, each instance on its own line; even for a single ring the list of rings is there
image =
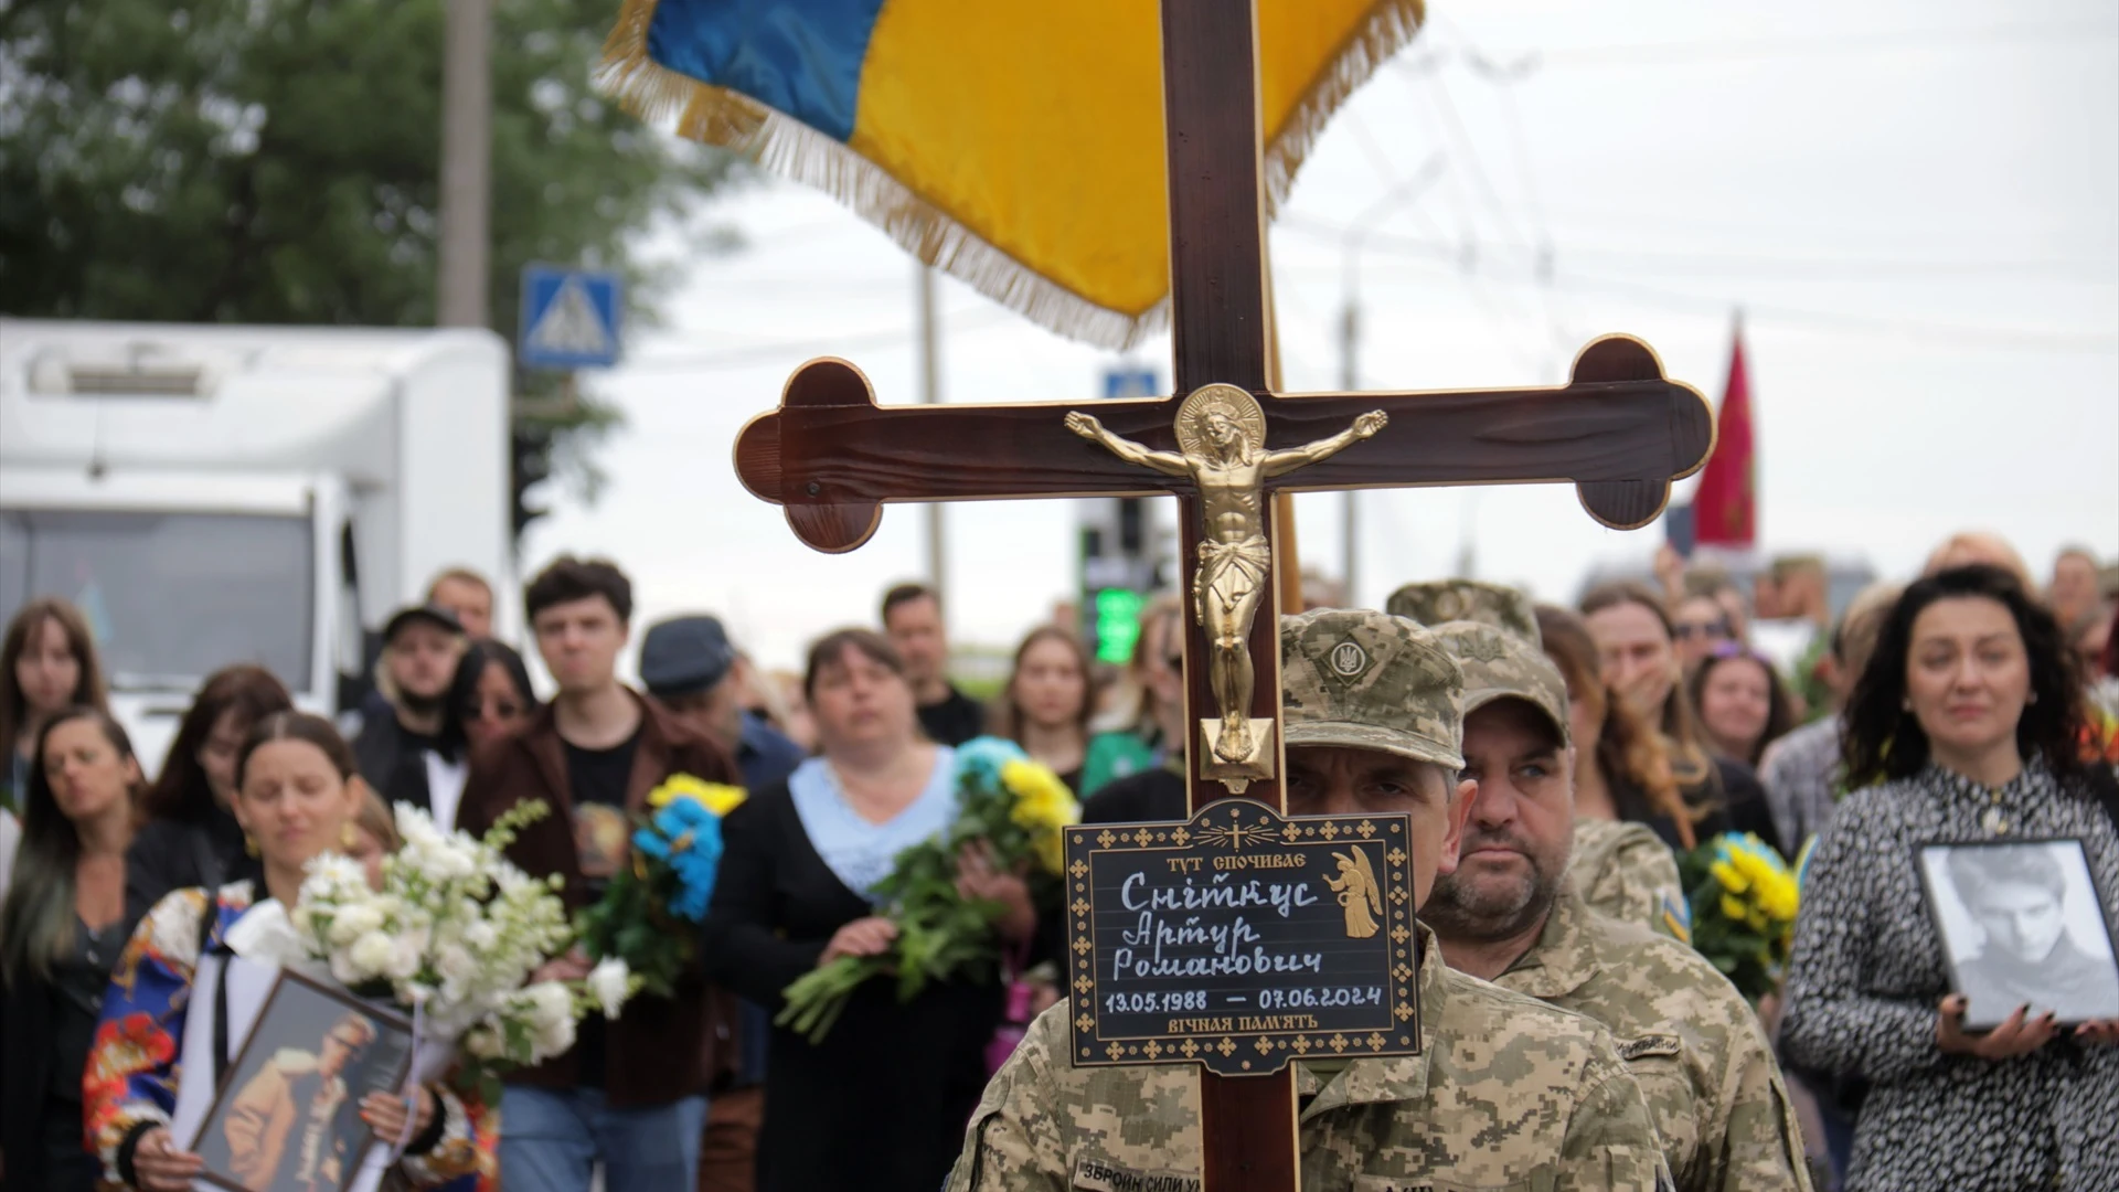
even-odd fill
[[[958,884],[996,908],[998,971],[911,999],[867,982],[820,1041],[773,1024],[790,982],[890,944],[875,884],[949,827],[966,740],[1017,742],[1083,821],[1187,817],[1178,596],[1144,607],[1123,666],[1070,624],[1034,628],[990,698],[951,681],[941,598],[915,583],[816,638],[799,674],[759,668],[712,615],[636,632],[604,560],[551,562],[523,615],[549,694],[496,641],[494,588],[449,571],[386,621],[360,706],[297,708],[231,662],[165,757],[133,753],[76,607],[13,615],[0,1188],[193,1188],[203,1160],[172,1114],[212,1073],[182,1060],[227,1048],[199,974],[250,912],[292,906],[316,857],[379,872],[392,806],[481,834],[542,800],[555,814],[509,857],[581,908],[674,774],[748,797],[670,997],[591,1012],[498,1099],[290,1075],[309,1092],[259,1101],[254,1188],[343,1186],[305,1158],[331,1099],[409,1139],[386,1186],[1199,1188],[1193,1071],[1072,1067],[1062,912],[977,855]],[[2119,1010],[2041,1001],[2115,971],[2115,626],[2087,551],[2041,583],[1986,534],[1837,607],[1816,558],[1738,585],[1666,551],[1572,609],[1432,581],[1382,611],[1288,611],[1288,812],[1407,812],[1420,921],[1420,1054],[1297,1065],[1303,1186],[2119,1188]],[[1689,944],[1678,859],[1727,834],[1801,859],[1793,957],[1757,999]],[[2089,889],[2038,865],[1960,880],[1988,940],[1973,982],[1922,846],[2013,840],[2079,840]],[[2089,899],[2072,918],[2070,897]],[[576,950],[538,976],[587,974]],[[1981,997],[2013,1005],[1988,1020]],[[337,1046],[367,1044],[350,1031]]]

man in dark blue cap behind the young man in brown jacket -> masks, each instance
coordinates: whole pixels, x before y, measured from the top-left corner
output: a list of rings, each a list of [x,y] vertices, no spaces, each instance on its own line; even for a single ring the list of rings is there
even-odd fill
[[[716,617],[670,617],[651,626],[640,638],[640,685],[676,719],[735,757],[750,791],[784,783],[803,759],[793,740],[744,711],[744,662]],[[725,995],[725,1001],[733,997]],[[699,1188],[746,1192],[765,1120],[765,1046],[773,1027],[771,1016],[748,1001],[725,1003],[723,1014],[737,1024],[735,1056],[727,1086],[716,1088],[706,1107]]]

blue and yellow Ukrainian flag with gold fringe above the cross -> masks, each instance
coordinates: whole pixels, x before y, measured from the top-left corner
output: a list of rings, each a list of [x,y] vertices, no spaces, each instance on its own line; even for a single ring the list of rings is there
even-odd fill
[[[1267,201],[1422,0],[1257,0]],[[824,189],[1026,316],[1129,346],[1168,316],[1157,0],[625,0],[602,83]]]

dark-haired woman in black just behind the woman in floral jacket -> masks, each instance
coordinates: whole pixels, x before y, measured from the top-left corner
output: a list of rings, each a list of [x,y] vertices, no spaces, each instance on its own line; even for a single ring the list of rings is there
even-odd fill
[[[286,685],[263,666],[225,666],[208,674],[142,802],[146,823],[125,855],[125,914],[138,921],[170,891],[220,889],[259,876],[229,810],[235,755],[250,725],[292,706]]]

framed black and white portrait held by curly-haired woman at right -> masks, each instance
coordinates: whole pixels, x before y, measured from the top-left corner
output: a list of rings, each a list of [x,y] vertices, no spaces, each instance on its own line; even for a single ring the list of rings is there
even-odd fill
[[[1920,878],[1966,1031],[2019,1005],[2062,1027],[2119,1018],[2119,961],[2081,840],[1922,844]]]

